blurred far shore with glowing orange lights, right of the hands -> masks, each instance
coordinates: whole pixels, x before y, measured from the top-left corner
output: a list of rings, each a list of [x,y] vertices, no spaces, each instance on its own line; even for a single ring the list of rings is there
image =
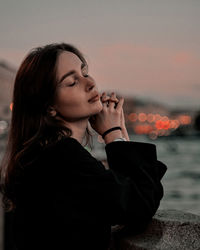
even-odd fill
[[[169,135],[194,134],[194,110],[173,110],[154,101],[125,98],[124,113],[130,133],[151,139]]]

